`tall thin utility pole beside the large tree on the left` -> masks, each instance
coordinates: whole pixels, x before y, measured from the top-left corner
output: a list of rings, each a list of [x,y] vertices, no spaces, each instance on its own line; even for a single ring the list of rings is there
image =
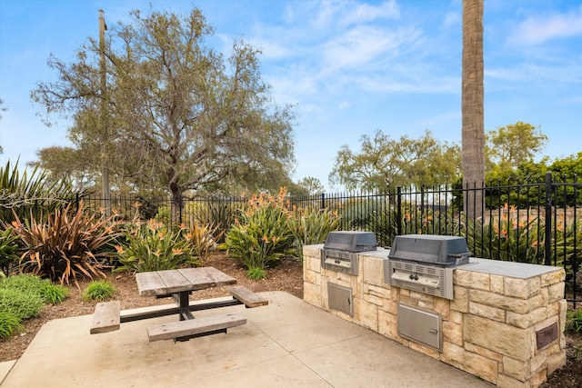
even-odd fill
[[[105,209],[105,216],[111,215],[111,193],[109,190],[109,169],[105,163],[105,153],[107,152],[105,143],[109,136],[109,124],[107,120],[107,76],[105,70],[105,12],[99,10],[99,69],[101,71],[101,190],[102,204]]]

